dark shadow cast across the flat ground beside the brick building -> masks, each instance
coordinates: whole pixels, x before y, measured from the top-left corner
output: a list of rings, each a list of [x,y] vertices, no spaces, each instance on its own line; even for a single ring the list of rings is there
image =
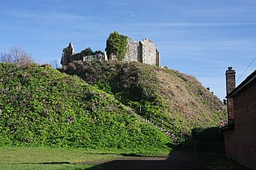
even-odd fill
[[[108,162],[94,162],[97,169],[122,170],[245,170],[242,165],[226,160],[224,156],[198,155],[193,152],[193,142],[186,140],[182,144],[169,145],[174,150],[168,156],[142,156],[136,153],[123,153],[123,157]],[[230,167],[230,168],[229,168]]]

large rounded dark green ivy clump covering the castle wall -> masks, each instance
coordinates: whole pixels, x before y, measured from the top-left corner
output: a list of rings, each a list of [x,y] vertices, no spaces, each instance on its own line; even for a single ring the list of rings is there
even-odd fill
[[[114,54],[118,61],[122,61],[127,52],[127,37],[118,34],[118,32],[114,31],[114,33],[110,34],[110,37],[106,39],[106,55],[110,58],[111,54]]]

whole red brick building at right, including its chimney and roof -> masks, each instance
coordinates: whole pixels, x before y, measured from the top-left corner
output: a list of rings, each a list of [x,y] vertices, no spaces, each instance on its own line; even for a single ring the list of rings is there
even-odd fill
[[[235,89],[234,74],[231,67],[226,70],[229,123],[222,128],[226,156],[256,169],[256,70]]]

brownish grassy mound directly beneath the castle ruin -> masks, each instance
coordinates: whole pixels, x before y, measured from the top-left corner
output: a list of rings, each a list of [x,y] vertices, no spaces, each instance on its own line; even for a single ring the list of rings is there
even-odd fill
[[[146,114],[165,117],[184,133],[226,120],[222,101],[195,77],[178,71],[123,61],[75,62],[60,71],[98,85],[124,105],[141,105]]]

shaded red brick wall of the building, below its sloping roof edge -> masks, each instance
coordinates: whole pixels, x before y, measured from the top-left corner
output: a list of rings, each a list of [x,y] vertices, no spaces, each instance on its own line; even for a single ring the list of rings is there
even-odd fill
[[[234,130],[225,132],[226,156],[256,169],[256,81],[234,97]]]

